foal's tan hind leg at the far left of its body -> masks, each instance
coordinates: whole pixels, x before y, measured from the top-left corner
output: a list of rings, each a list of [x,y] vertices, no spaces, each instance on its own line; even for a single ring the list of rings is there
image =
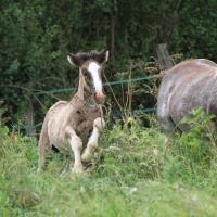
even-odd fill
[[[43,126],[40,133],[40,139],[38,143],[38,173],[41,171],[46,165],[46,152],[49,149],[49,136],[48,136],[48,122],[44,119]]]

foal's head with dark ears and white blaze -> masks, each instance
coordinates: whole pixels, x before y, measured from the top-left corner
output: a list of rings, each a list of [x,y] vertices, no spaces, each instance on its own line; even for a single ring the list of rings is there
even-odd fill
[[[108,59],[108,51],[91,51],[87,53],[68,54],[72,65],[79,67],[81,76],[85,78],[85,88],[94,95],[95,102],[104,102],[102,87],[102,64]]]

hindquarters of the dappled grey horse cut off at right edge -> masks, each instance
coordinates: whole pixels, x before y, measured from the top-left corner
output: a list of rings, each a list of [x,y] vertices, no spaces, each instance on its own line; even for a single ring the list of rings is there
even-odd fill
[[[180,120],[196,107],[217,115],[217,64],[205,59],[184,61],[166,73],[158,91],[157,119],[167,132],[175,127],[183,131],[189,126]]]

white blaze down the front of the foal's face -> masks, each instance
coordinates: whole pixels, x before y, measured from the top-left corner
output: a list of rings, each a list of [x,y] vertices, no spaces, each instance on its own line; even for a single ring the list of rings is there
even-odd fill
[[[99,75],[100,65],[95,62],[91,62],[88,66],[88,71],[92,76],[95,92],[102,92],[102,80]]]

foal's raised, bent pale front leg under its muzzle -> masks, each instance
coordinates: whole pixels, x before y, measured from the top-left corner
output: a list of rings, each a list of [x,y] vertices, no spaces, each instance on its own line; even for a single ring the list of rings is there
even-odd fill
[[[81,161],[84,163],[89,163],[91,161],[92,155],[95,149],[98,148],[98,139],[100,136],[100,131],[104,128],[104,126],[105,126],[105,122],[103,118],[98,117],[94,119],[92,133],[88,140],[87,148],[85,149],[81,156]]]

